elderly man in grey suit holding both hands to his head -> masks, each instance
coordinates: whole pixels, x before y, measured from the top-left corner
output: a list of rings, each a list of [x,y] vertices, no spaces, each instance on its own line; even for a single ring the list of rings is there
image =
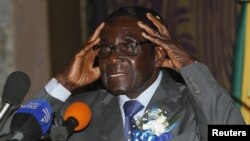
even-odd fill
[[[93,66],[96,57],[99,65]],[[207,140],[209,124],[244,124],[229,94],[172,40],[151,9],[124,7],[112,13],[55,78],[72,91],[99,77],[104,90],[66,102],[82,100],[93,112],[88,127],[70,141]]]

